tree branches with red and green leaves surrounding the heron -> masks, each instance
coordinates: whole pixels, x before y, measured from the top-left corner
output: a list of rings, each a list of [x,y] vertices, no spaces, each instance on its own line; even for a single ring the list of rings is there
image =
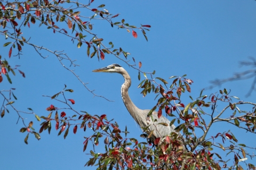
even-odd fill
[[[44,54],[42,54],[41,50],[46,50],[49,53],[52,53],[55,55],[61,65],[65,67],[68,71],[73,73],[75,75],[75,78],[78,79],[85,88],[87,88],[87,84],[78,77],[75,71],[70,69],[70,67],[66,65],[71,66],[77,66],[74,60],[72,60],[67,54],[63,52],[57,52],[55,50],[50,50],[48,48],[42,47],[41,45],[35,45],[34,43],[30,43],[29,38],[25,37],[25,33],[23,33],[23,26],[21,25],[30,25],[31,23],[37,23],[37,21],[40,22],[39,25],[46,25],[47,28],[52,29],[54,33],[62,33],[63,35],[68,35],[71,40],[73,40],[74,43],[77,43],[77,47],[84,47],[83,44],[86,44],[86,54],[90,57],[97,56],[98,60],[101,58],[103,60],[105,58],[105,54],[111,53],[124,61],[125,63],[132,66],[134,69],[139,70],[139,79],[140,74],[144,74],[145,72],[141,72],[141,62],[139,67],[136,67],[133,64],[130,64],[131,62],[128,62],[129,58],[126,60],[126,57],[129,55],[126,50],[123,48],[113,48],[113,43],[109,43],[108,46],[105,46],[103,44],[103,40],[105,38],[101,38],[96,36],[95,34],[91,33],[91,30],[93,30],[94,25],[92,22],[93,19],[103,19],[104,21],[107,21],[110,27],[119,27],[119,28],[126,28],[132,32],[132,35],[134,38],[137,38],[136,29],[143,30],[142,35],[146,36],[145,30],[150,27],[150,25],[142,25],[141,27],[137,28],[135,26],[131,26],[125,22],[125,20],[121,20],[121,22],[114,22],[114,18],[118,14],[110,15],[108,11],[106,10],[99,10],[104,5],[100,5],[97,8],[89,8],[88,6],[91,5],[89,2],[88,5],[83,5],[80,3],[74,3],[74,2],[68,2],[68,1],[55,1],[55,2],[48,2],[48,1],[40,1],[39,4],[36,4],[36,2],[26,2],[26,3],[13,3],[13,4],[2,4],[2,10],[3,11],[3,18],[2,18],[2,25],[4,28],[8,28],[7,31],[3,30],[1,33],[3,36],[7,36],[8,40],[10,38],[13,39],[13,41],[8,41],[4,44],[4,46],[10,47],[8,56],[11,58],[13,57],[12,54],[14,53],[14,47],[16,49],[16,54],[21,57],[21,52],[23,45],[31,45],[35,48],[36,52],[42,56],[45,57]],[[69,4],[77,5],[77,7],[74,7],[73,9],[68,8]],[[31,5],[30,5],[31,4]],[[52,5],[55,4],[55,5]],[[15,5],[15,6],[13,6]],[[62,6],[63,5],[63,6]],[[67,5],[67,6],[66,6]],[[70,5],[72,6],[72,5]],[[82,16],[81,10],[78,10],[77,8],[87,8],[92,15],[90,16],[90,21],[84,21]],[[65,8],[68,8],[69,10],[65,10]],[[13,14],[12,14],[13,11]],[[81,13],[79,13],[80,11]],[[29,15],[30,13],[30,15]],[[97,15],[96,15],[97,14]],[[12,18],[12,16],[15,15],[15,17]],[[96,18],[99,16],[99,18]],[[19,18],[21,19],[19,21]],[[59,18],[59,19],[58,19]],[[9,20],[9,21],[8,21]],[[62,21],[62,23],[65,24],[57,24],[58,22],[55,21]],[[22,23],[23,22],[23,23]],[[114,23],[113,23],[114,22]],[[22,24],[21,24],[22,23]],[[10,26],[9,26],[10,25]],[[11,28],[10,28],[11,27]],[[45,27],[45,28],[46,28]],[[62,29],[61,29],[62,28]],[[70,28],[70,32],[73,32],[73,34],[68,34],[67,28]],[[78,28],[78,29],[77,29]],[[67,29],[67,30],[66,30]],[[86,31],[87,33],[83,33],[83,31]],[[11,32],[12,31],[12,32]],[[76,32],[77,31],[77,32]],[[68,32],[68,33],[66,33]],[[138,31],[137,31],[138,32]],[[23,33],[23,35],[21,34]],[[72,36],[73,35],[73,36]],[[91,35],[91,37],[89,37]],[[22,38],[21,36],[25,37]],[[87,36],[87,37],[85,37]],[[21,37],[21,38],[20,38]],[[89,38],[88,38],[89,37]],[[145,37],[147,39],[147,37]],[[93,48],[93,50],[92,50]],[[3,55],[3,54],[2,54]],[[6,56],[7,54],[5,54]],[[7,58],[7,57],[3,57]],[[135,58],[136,59],[136,58]],[[134,60],[134,58],[133,58]],[[18,70],[19,67],[10,67],[9,63],[10,59],[3,60],[2,61],[2,75],[5,74],[6,78],[4,77],[3,81],[9,81],[10,83],[13,80],[13,77],[11,77],[11,72],[14,72],[15,70]],[[135,61],[134,61],[135,63]],[[137,62],[138,63],[138,62]],[[25,77],[25,73],[18,70],[23,77]],[[50,105],[47,107],[47,111],[50,111],[49,115],[43,116],[34,113],[33,109],[29,109],[29,112],[20,112],[17,109],[15,109],[15,104],[13,101],[15,101],[15,91],[14,89],[7,90],[7,91],[1,91],[3,98],[3,107],[1,111],[1,116],[3,117],[7,112],[9,112],[10,107],[14,109],[19,114],[20,119],[23,121],[23,125],[20,129],[21,132],[26,132],[27,135],[25,135],[25,143],[28,142],[28,137],[31,136],[31,133],[35,135],[35,137],[39,140],[40,132],[42,133],[44,130],[48,130],[49,133],[51,131],[51,127],[55,125],[55,128],[58,129],[59,135],[63,134],[63,137],[66,138],[68,134],[70,134],[70,130],[73,129],[73,132],[77,132],[77,126],[79,128],[83,128],[84,131],[89,131],[87,128],[92,128],[93,134],[92,135],[86,135],[86,139],[84,141],[84,150],[86,150],[87,145],[89,141],[92,141],[92,145],[103,145],[101,144],[102,141],[99,141],[99,139],[102,139],[104,137],[104,142],[106,144],[106,153],[102,154],[95,154],[97,152],[91,150],[91,159],[89,162],[86,163],[86,166],[94,165],[99,163],[99,167],[101,168],[111,168],[118,166],[124,166],[128,168],[147,168],[147,167],[162,167],[162,168],[177,168],[180,169],[185,168],[200,168],[200,167],[207,167],[207,168],[220,168],[219,159],[222,159],[219,152],[212,151],[212,149],[215,150],[214,147],[221,148],[223,150],[229,150],[230,154],[232,154],[234,162],[227,163],[228,167],[239,167],[240,163],[238,164],[239,160],[245,160],[245,157],[248,157],[248,155],[253,155],[250,152],[246,152],[243,145],[243,143],[240,143],[241,145],[237,145],[236,143],[236,137],[234,133],[231,133],[229,131],[223,131],[221,133],[213,133],[213,138],[205,138],[207,132],[212,127],[212,123],[215,122],[221,122],[226,121],[230,122],[231,124],[234,124],[236,126],[241,126],[241,128],[254,133],[254,126],[255,126],[255,108],[248,109],[245,108],[245,113],[240,108],[240,105],[255,105],[253,103],[246,103],[244,101],[237,101],[233,102],[231,99],[230,92],[227,89],[222,89],[218,93],[213,93],[211,95],[206,96],[203,94],[203,91],[198,98],[192,98],[191,102],[183,103],[182,97],[184,96],[183,93],[187,90],[190,92],[190,84],[192,83],[191,80],[187,79],[185,76],[183,77],[171,77],[173,81],[169,82],[171,84],[171,87],[167,86],[167,81],[162,78],[154,77],[154,73],[145,73],[146,78],[142,80],[139,87],[142,88],[142,94],[143,96],[146,96],[150,91],[154,91],[157,96],[157,105],[152,106],[153,109],[157,109],[159,116],[164,113],[162,109],[165,110],[166,114],[169,116],[175,116],[176,118],[173,119],[172,123],[176,124],[176,120],[179,124],[177,127],[177,130],[182,131],[185,133],[186,138],[186,144],[190,147],[189,151],[183,152],[183,150],[179,149],[179,146],[181,146],[180,139],[176,137],[175,134],[171,134],[170,137],[166,137],[164,141],[159,143],[154,143],[155,145],[159,144],[158,146],[155,146],[155,148],[151,148],[146,141],[148,138],[147,135],[149,134],[143,134],[142,137],[145,138],[142,142],[140,142],[138,139],[135,138],[126,138],[127,130],[126,128],[121,130],[121,128],[118,128],[118,124],[114,121],[109,121],[109,116],[106,117],[105,114],[98,114],[98,116],[94,116],[91,114],[87,114],[85,111],[78,112],[76,109],[73,108],[73,105],[75,103],[74,99],[69,99],[65,97],[67,93],[73,92],[73,89],[65,88],[58,92],[51,95],[48,95],[46,97],[51,97],[52,99],[57,99],[57,101],[62,102],[64,105],[60,106],[60,103]],[[15,73],[14,73],[15,74]],[[166,85],[166,86],[165,86]],[[7,92],[7,94],[5,93]],[[93,90],[90,90],[90,92],[94,96],[99,96],[97,94],[94,94]],[[205,92],[204,92],[205,93]],[[11,99],[10,99],[11,97]],[[63,98],[61,98],[63,97]],[[104,98],[104,97],[103,97]],[[234,97],[235,99],[237,97]],[[14,99],[14,100],[13,100]],[[207,103],[209,102],[209,103]],[[227,104],[223,106],[223,112],[220,112],[220,114],[217,114],[216,106],[219,103]],[[211,107],[210,107],[211,106]],[[221,107],[220,104],[218,107]],[[195,108],[196,107],[196,108]],[[206,108],[206,109],[205,109]],[[209,110],[207,110],[209,108]],[[231,109],[233,114],[230,118],[220,118],[221,114],[225,113],[226,109]],[[74,114],[77,115],[76,117],[71,117],[73,114],[67,113],[65,109],[68,109],[68,111],[75,112]],[[191,109],[191,110],[190,110]],[[58,112],[59,111],[59,112]],[[237,116],[237,113],[241,113],[239,116]],[[41,128],[34,130],[33,123],[30,121],[26,121],[23,116],[20,116],[22,113],[28,113],[28,114],[34,114],[35,118],[37,120],[44,120],[43,123],[41,123]],[[53,115],[52,115],[53,114]],[[217,114],[217,116],[215,116]],[[55,117],[54,117],[55,115]],[[40,117],[39,117],[40,116]],[[150,115],[149,115],[150,116]],[[209,116],[210,120],[205,119],[205,116]],[[5,118],[5,117],[4,117]],[[34,119],[35,119],[34,118]],[[73,122],[75,121],[75,122]],[[208,122],[207,122],[208,121]],[[54,123],[53,123],[54,122]],[[77,123],[78,122],[78,123]],[[246,126],[244,126],[244,122],[246,122]],[[34,121],[35,123],[35,121]],[[54,125],[53,125],[54,124]],[[199,125],[201,124],[201,125]],[[163,124],[165,125],[165,124]],[[69,128],[71,128],[69,130]],[[205,132],[198,132],[200,130],[204,130]],[[124,132],[124,133],[121,133]],[[30,134],[30,135],[29,135]],[[123,136],[124,135],[124,136]],[[31,137],[30,137],[31,138]],[[227,145],[225,146],[223,143],[226,141],[225,139],[228,138],[231,142],[233,142],[233,146]],[[126,140],[127,139],[127,140]],[[217,141],[219,140],[220,141]],[[222,141],[221,141],[222,140]],[[216,142],[217,141],[217,142]],[[134,146],[133,148],[130,146]],[[242,153],[242,155],[241,155]],[[247,154],[247,156],[246,156]],[[217,158],[218,157],[218,158]],[[216,160],[216,158],[218,160]],[[97,162],[96,162],[97,161]],[[184,162],[185,161],[185,162]],[[225,161],[223,159],[223,165],[226,166]],[[253,168],[252,164],[247,164],[250,168]],[[119,168],[121,168],[119,167]]]

